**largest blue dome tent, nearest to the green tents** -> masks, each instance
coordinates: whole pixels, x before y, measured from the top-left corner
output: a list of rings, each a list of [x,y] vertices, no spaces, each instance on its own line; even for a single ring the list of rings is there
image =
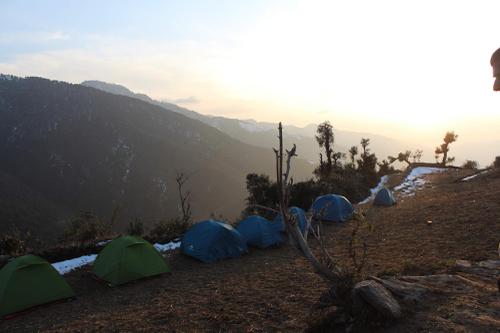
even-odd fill
[[[238,231],[214,220],[193,225],[182,237],[181,249],[188,256],[206,263],[239,257],[248,251]]]

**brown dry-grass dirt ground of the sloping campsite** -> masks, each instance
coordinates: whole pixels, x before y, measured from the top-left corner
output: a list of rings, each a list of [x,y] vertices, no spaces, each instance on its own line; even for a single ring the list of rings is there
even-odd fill
[[[372,225],[366,275],[436,274],[453,271],[458,259],[498,259],[500,177],[457,181],[465,174],[430,175],[424,189],[390,208],[359,207]],[[327,245],[342,263],[349,262],[352,226],[324,226]],[[89,268],[72,272],[66,277],[75,300],[0,322],[0,332],[303,331],[327,289],[289,245],[251,249],[215,264],[177,252],[167,261],[172,273],[117,288],[92,279]],[[493,277],[482,282],[481,288],[430,297],[378,330],[499,332],[500,294]]]

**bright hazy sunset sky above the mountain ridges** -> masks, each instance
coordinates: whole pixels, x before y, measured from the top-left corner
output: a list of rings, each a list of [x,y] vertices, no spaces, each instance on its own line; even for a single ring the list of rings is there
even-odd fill
[[[0,1],[0,72],[193,110],[500,139],[500,1]]]

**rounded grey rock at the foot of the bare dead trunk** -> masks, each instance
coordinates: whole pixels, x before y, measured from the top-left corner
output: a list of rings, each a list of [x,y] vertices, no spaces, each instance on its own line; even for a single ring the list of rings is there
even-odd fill
[[[392,294],[373,280],[359,282],[353,289],[354,310],[360,310],[363,302],[370,304],[377,312],[389,319],[401,317],[401,306]]]

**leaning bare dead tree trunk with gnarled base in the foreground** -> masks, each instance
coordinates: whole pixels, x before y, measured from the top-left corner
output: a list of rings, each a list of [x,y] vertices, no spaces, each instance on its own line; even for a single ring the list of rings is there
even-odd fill
[[[352,277],[349,276],[348,270],[336,264],[328,253],[319,229],[317,231],[312,230],[312,234],[318,240],[320,247],[320,257],[319,259],[316,257],[307,242],[307,231],[306,236],[304,236],[299,229],[296,219],[290,216],[288,211],[290,191],[293,185],[293,179],[290,178],[291,159],[297,156],[296,146],[293,145],[292,149],[286,150],[285,162],[283,128],[281,123],[279,123],[278,132],[279,148],[274,148],[273,150],[276,155],[279,212],[291,240],[300,249],[302,255],[307,259],[314,271],[333,285],[329,294],[334,298],[334,304],[345,307],[346,312],[352,316],[356,316],[356,313],[363,313],[364,309],[370,308],[375,309],[376,312],[386,318],[400,318],[402,309],[396,298],[405,302],[418,301],[428,289],[419,283],[394,279],[383,280],[375,277],[353,285]],[[285,170],[284,163],[286,163]],[[310,222],[308,221],[309,226]],[[366,251],[366,247],[364,251]]]

